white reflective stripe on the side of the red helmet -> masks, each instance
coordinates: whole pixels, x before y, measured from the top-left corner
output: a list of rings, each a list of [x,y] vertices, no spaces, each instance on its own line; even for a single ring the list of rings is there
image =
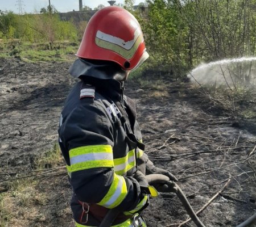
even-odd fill
[[[139,35],[141,35],[141,29],[138,27],[137,30],[135,30],[135,32],[134,32],[134,38],[127,42],[118,37],[101,32],[100,30],[97,31],[96,37],[98,37],[98,39],[108,41],[109,43],[114,43],[114,44],[118,45],[119,47],[129,50],[133,47],[133,45],[136,42],[136,40],[138,39]]]

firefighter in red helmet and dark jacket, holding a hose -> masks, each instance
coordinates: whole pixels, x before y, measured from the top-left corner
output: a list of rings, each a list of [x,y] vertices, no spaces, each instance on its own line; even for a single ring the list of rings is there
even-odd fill
[[[99,226],[111,209],[119,211],[112,226],[146,226],[145,174],[176,178],[148,160],[135,104],[123,94],[129,73],[148,58],[137,19],[116,6],[97,11],[76,56],[69,74],[80,80],[65,101],[59,127],[75,226]]]

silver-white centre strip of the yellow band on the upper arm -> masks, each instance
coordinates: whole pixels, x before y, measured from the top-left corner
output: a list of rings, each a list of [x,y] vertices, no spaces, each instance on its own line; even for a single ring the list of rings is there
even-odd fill
[[[113,160],[113,153],[90,153],[90,154],[81,154],[70,159],[71,165],[94,160]]]

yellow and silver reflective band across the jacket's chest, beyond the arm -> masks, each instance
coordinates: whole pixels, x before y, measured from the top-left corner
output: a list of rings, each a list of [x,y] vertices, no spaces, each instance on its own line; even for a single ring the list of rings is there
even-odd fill
[[[125,157],[114,158],[114,171],[118,175],[125,174],[135,166],[135,150],[130,150]]]

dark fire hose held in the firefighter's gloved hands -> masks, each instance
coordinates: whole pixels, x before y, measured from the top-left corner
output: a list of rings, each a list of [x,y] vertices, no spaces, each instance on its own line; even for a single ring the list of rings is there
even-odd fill
[[[188,212],[188,215],[191,217],[192,221],[195,222],[197,227],[205,227],[205,225],[200,221],[199,217],[197,217],[195,211],[191,207],[187,197],[181,188],[175,183],[170,181],[168,176],[164,176],[162,174],[150,174],[146,176],[148,184],[156,184],[167,182],[168,188],[170,188],[170,192],[175,192],[177,197],[180,199],[183,204],[185,210]],[[110,209],[104,219],[102,220],[99,227],[109,227],[114,222],[115,218],[118,216],[120,210],[119,209]]]

